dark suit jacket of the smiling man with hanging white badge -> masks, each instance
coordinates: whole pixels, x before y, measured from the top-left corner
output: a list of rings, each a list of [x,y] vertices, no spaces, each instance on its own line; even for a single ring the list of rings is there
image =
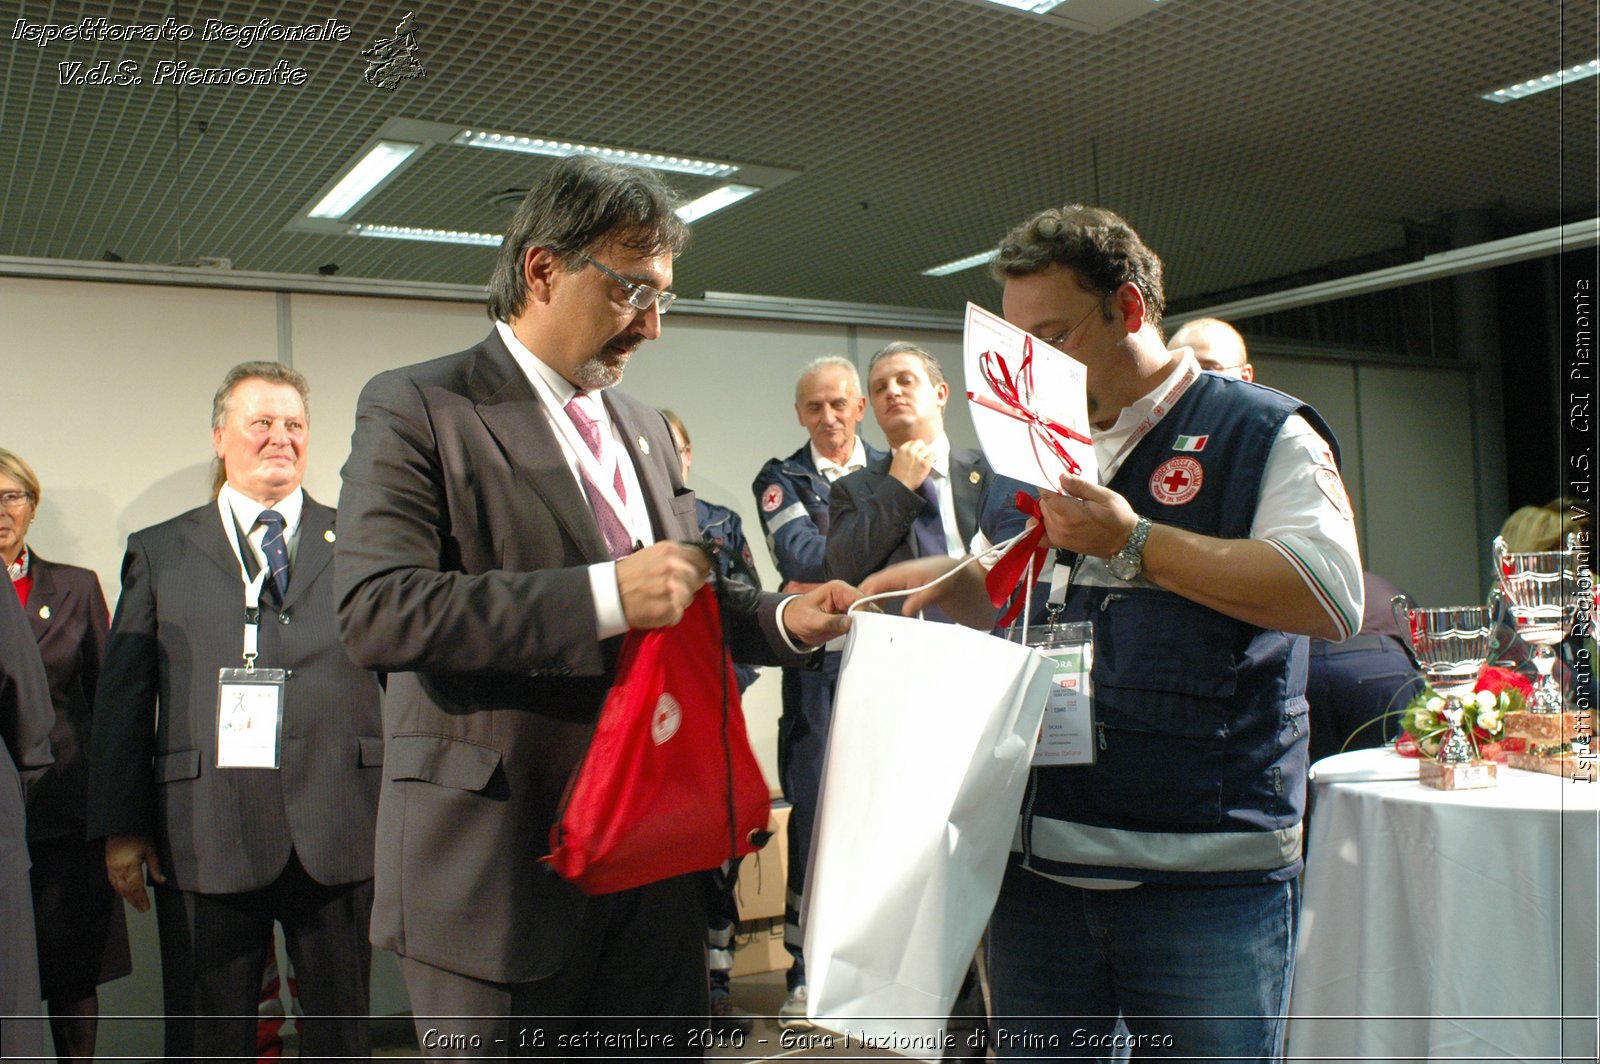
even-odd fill
[[[216,768],[218,669],[240,667],[245,592],[216,502],[128,538],[94,699],[90,837],[149,835],[168,885],[258,890],[293,846],[318,883],[373,874],[378,680],[333,618],[333,520],[306,498],[282,610],[258,667],[290,669],[280,768]]]

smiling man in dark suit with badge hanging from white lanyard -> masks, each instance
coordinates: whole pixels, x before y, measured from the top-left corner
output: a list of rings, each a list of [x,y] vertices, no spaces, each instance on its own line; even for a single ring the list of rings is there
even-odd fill
[[[139,912],[155,883],[168,1056],[254,1056],[274,922],[302,1054],[370,1051],[378,680],[334,630],[334,514],[301,490],[306,397],[288,366],[234,366],[213,402],[218,498],[130,536],[122,566],[90,835]]]

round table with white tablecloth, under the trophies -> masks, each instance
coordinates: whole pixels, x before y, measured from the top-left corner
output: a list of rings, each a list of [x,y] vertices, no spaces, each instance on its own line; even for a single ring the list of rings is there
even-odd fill
[[[1291,1059],[1595,1061],[1600,782],[1352,750],[1312,786]]]

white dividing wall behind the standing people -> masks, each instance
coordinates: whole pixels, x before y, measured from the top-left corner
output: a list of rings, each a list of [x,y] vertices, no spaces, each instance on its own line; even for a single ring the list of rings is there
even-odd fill
[[[206,498],[211,395],[229,366],[283,357],[309,378],[306,488],[333,504],[362,384],[467,347],[490,328],[482,307],[464,302],[10,277],[0,278],[0,446],[32,462],[45,486],[30,542],[96,570],[109,602],[128,533]],[[688,424],[690,485],[741,514],[768,587],[778,576],[750,480],[805,442],[794,414],[798,368],[843,355],[864,370],[893,339],[920,342],[944,363],[950,437],[974,445],[954,331],[674,314],[635,355],[624,387]],[[1477,600],[1466,374],[1274,355],[1256,366],[1261,382],[1306,398],[1338,434],[1370,568],[1422,603]],[[870,411],[864,434],[883,443]],[[776,779],[776,680],[758,682],[747,702]]]

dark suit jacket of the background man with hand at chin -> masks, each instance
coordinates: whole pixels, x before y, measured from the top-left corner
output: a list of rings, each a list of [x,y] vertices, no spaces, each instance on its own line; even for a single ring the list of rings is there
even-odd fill
[[[878,570],[917,557],[912,523],[925,499],[894,477],[893,456],[869,462],[834,482],[827,512],[827,576],[859,584]],[[978,515],[989,491],[989,461],[982,451],[950,448],[950,486],[955,493],[955,526],[962,544],[978,531]]]

